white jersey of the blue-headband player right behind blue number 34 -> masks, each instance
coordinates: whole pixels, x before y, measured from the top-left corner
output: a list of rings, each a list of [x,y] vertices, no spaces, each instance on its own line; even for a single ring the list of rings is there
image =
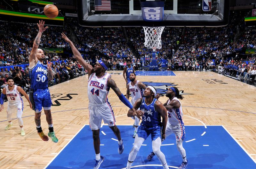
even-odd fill
[[[178,102],[180,102],[180,100],[177,97],[174,97],[172,100],[177,100]],[[168,100],[167,105],[170,103],[170,99]],[[183,122],[182,120],[182,106],[181,106],[181,102],[180,102],[180,108],[179,109],[174,109],[172,108],[171,110],[167,110],[168,112],[168,122],[170,124],[177,124],[180,122]]]

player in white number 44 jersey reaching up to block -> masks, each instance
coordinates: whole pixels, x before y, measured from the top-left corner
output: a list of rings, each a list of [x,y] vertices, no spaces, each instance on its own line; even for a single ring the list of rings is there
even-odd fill
[[[124,97],[120,92],[116,83],[111,79],[111,75],[106,73],[108,70],[108,62],[105,60],[98,60],[94,67],[88,64],[78,52],[73,42],[68,37],[61,33],[62,38],[69,43],[75,58],[79,63],[88,71],[88,86],[87,93],[89,98],[89,121],[90,128],[92,130],[93,144],[96,155],[96,163],[94,169],[100,168],[100,164],[103,162],[104,157],[100,156],[100,125],[103,119],[104,123],[107,123],[110,129],[114,132],[118,139],[118,153],[122,154],[124,151],[123,140],[120,135],[119,129],[116,127],[116,120],[114,112],[108,102],[108,92],[112,88],[119,99],[134,113],[135,109],[132,108],[132,104]]]

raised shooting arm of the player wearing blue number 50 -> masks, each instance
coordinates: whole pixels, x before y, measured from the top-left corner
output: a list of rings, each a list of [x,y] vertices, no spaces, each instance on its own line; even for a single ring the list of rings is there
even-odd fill
[[[39,24],[37,24],[37,26],[38,26],[39,31],[36,35],[36,39],[34,40],[31,53],[28,57],[29,67],[33,67],[37,62],[36,52],[37,52],[37,49],[38,49],[39,44],[40,44],[41,36],[42,36],[42,33],[48,28],[48,26],[44,27],[44,21],[43,20],[39,21]]]

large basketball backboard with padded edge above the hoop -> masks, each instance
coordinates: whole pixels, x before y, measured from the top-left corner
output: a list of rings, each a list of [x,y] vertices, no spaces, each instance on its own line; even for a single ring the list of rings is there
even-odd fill
[[[159,6],[161,20],[146,21],[142,8]],[[87,27],[215,27],[228,25],[229,17],[229,0],[78,0],[77,7],[79,24]]]

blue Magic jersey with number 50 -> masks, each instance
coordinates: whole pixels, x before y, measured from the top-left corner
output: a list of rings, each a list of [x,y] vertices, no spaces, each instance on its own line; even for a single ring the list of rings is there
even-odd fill
[[[29,67],[30,71],[30,88],[45,89],[48,88],[47,65],[43,65],[39,60],[34,67]]]

